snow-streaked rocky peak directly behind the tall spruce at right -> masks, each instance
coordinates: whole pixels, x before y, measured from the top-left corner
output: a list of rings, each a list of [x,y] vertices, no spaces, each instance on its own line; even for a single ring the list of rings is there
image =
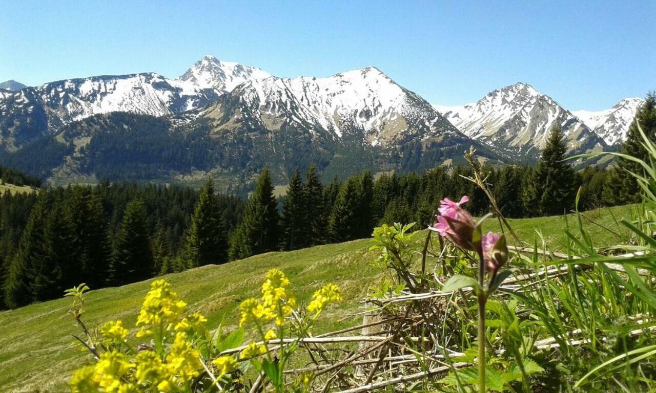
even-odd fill
[[[536,157],[554,124],[562,126],[569,152],[606,146],[579,118],[526,83],[494,90],[475,103],[434,107],[470,138],[507,153]]]

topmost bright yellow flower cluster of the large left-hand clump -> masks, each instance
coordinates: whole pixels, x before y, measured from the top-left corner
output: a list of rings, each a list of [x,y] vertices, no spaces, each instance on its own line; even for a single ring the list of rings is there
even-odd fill
[[[171,330],[171,326],[180,319],[187,303],[178,299],[178,294],[171,291],[171,284],[165,280],[155,280],[150,284],[150,291],[146,294],[139,316],[136,320],[136,326],[165,326]],[[137,332],[136,337],[147,337],[152,335],[150,329],[142,327]]]

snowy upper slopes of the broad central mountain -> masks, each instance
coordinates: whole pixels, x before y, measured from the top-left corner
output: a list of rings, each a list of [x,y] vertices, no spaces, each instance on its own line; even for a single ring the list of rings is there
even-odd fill
[[[268,130],[295,124],[331,138],[355,133],[371,146],[417,135],[461,135],[428,102],[375,67],[326,78],[251,79],[218,110],[230,110],[235,100],[241,113],[251,113]]]

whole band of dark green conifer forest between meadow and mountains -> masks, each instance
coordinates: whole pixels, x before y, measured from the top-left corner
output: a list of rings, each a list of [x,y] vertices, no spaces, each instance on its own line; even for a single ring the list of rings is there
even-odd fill
[[[655,139],[656,100],[636,119]],[[642,152],[635,126],[623,151]],[[502,214],[510,218],[558,215],[635,202],[638,185],[618,160],[611,169],[575,172],[565,160],[560,128],[535,166],[486,167],[485,182]],[[0,167],[3,181],[39,187],[38,178]],[[136,183],[42,187],[35,193],[0,197],[0,306],[15,308],[59,297],[80,282],[92,288],[120,286],[159,274],[258,253],[297,250],[371,235],[382,223],[430,225],[442,198],[470,196],[470,212],[490,207],[468,177],[468,166],[436,167],[420,174],[368,171],[322,184],[314,164],[289,174],[285,196],[274,196],[264,169],[247,198],[215,192]]]

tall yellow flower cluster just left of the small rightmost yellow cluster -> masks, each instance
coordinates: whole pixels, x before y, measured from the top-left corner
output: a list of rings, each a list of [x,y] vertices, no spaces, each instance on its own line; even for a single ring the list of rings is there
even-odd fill
[[[262,284],[260,299],[246,299],[239,305],[241,319],[239,326],[250,322],[268,322],[276,320],[277,325],[285,322],[285,316],[292,314],[296,299],[287,290],[289,280],[278,269],[271,269]]]

